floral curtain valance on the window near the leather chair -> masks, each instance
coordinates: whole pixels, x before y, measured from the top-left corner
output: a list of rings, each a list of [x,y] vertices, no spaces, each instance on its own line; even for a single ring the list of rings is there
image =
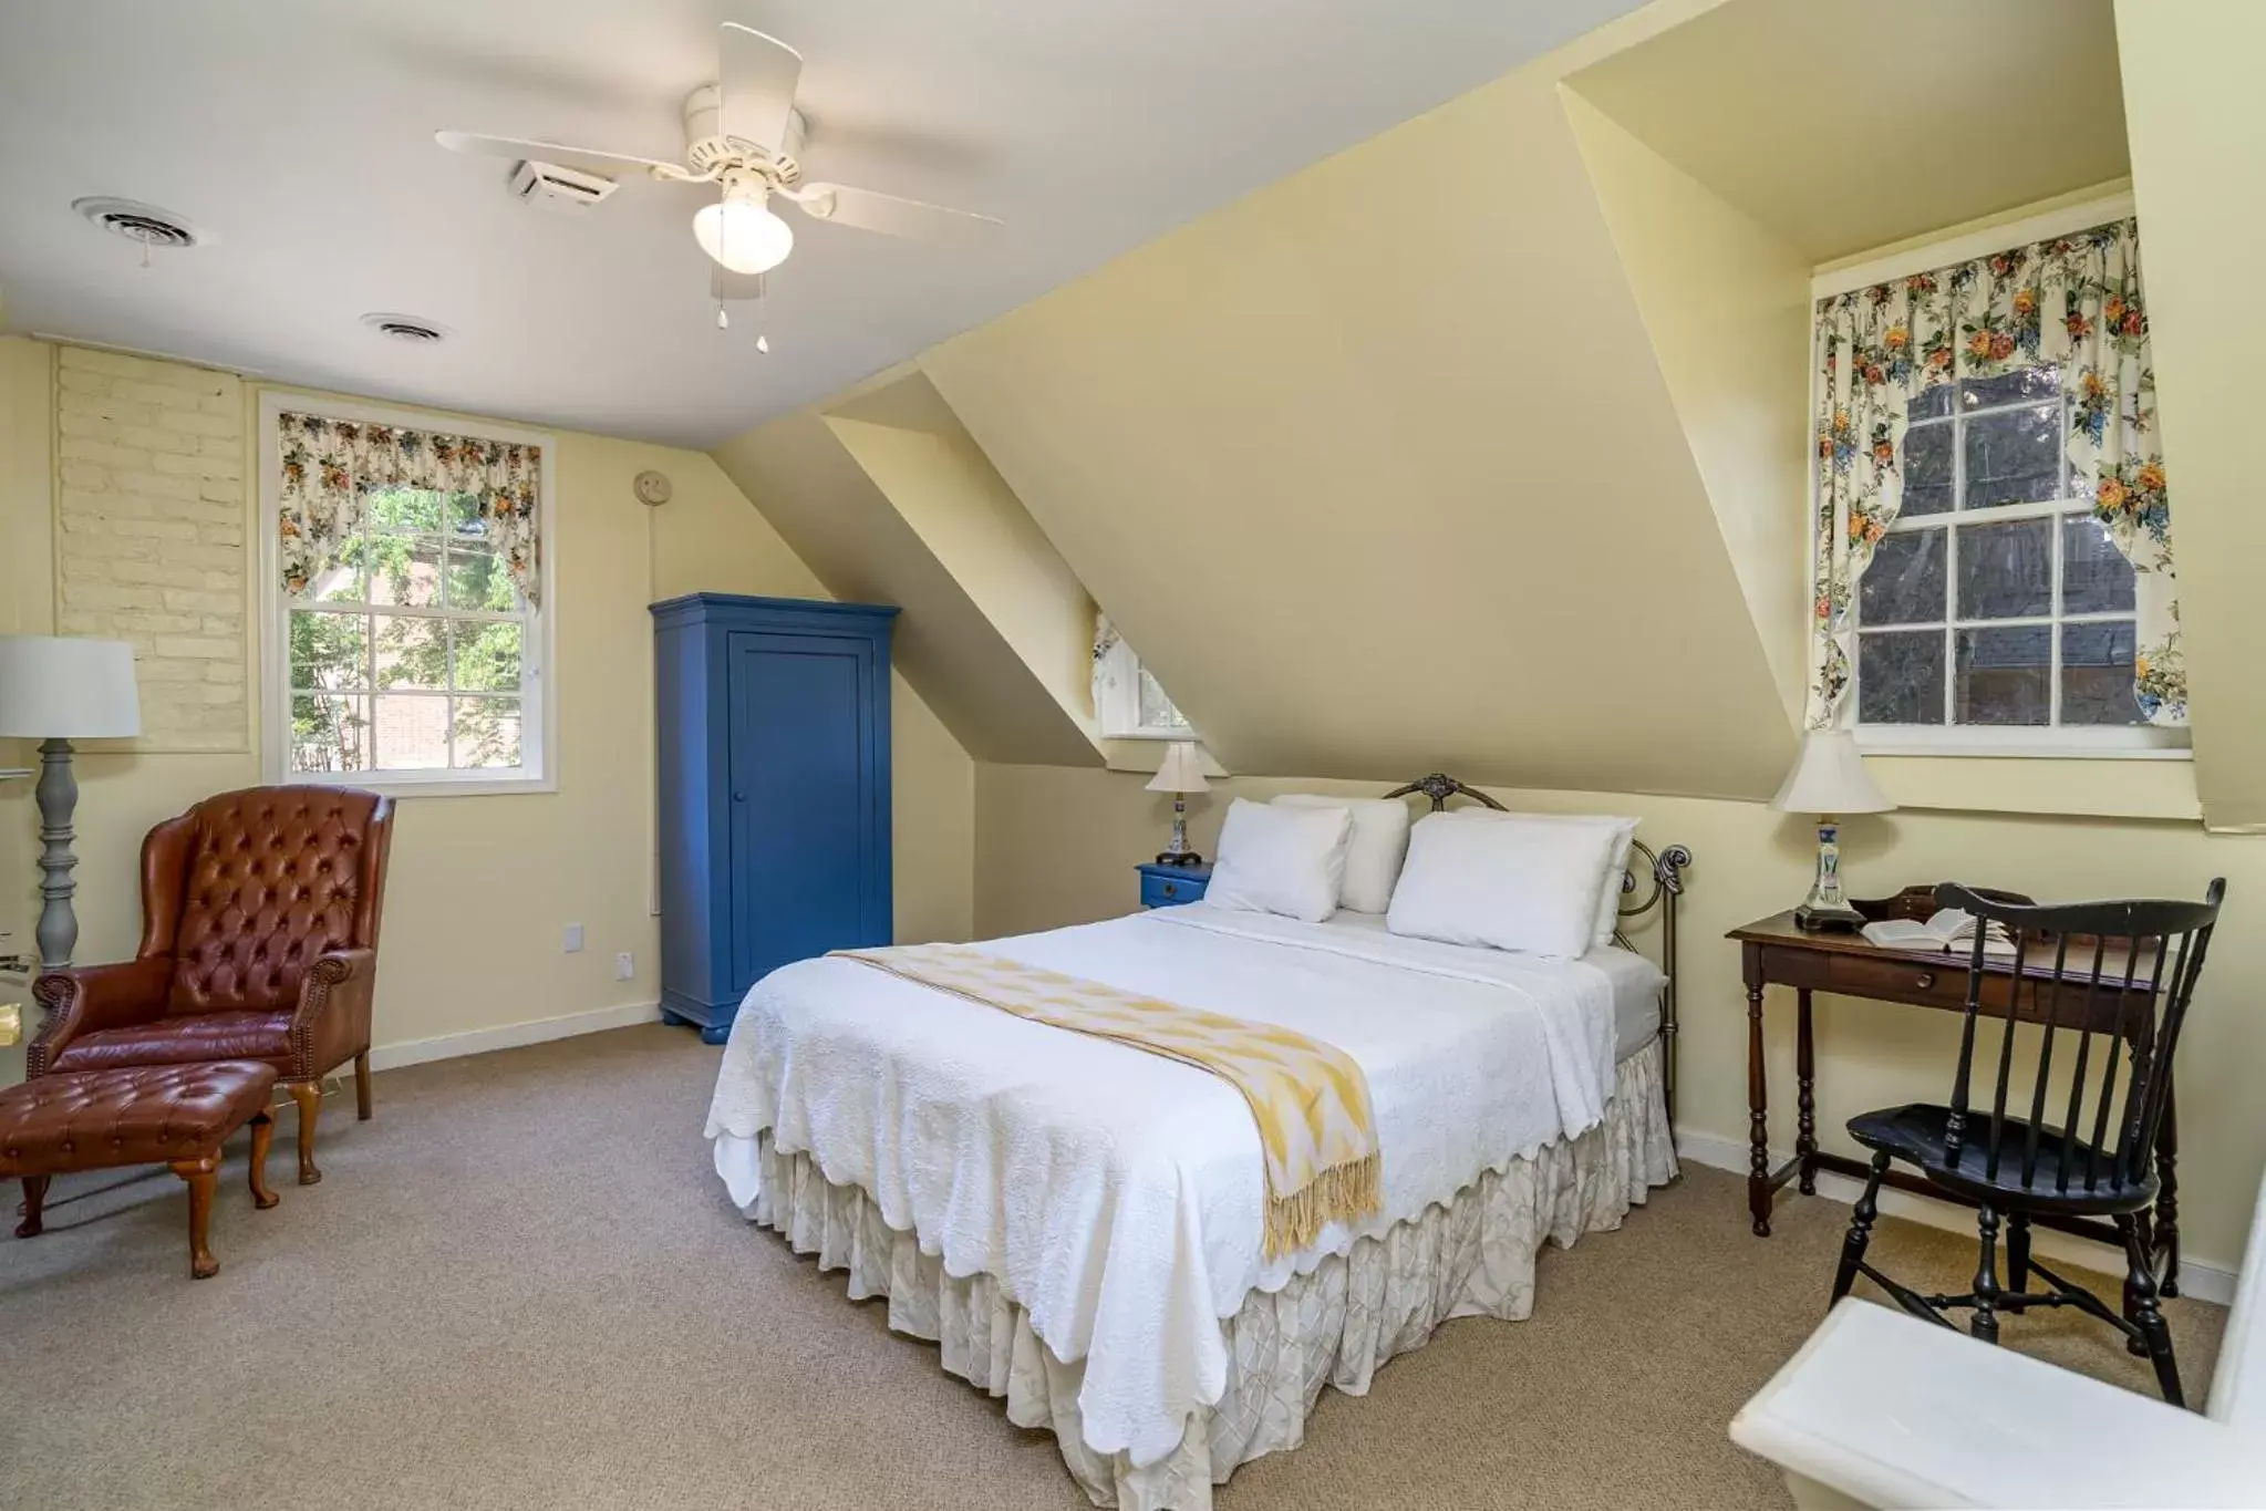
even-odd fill
[[[542,605],[542,449],[324,415],[276,417],[283,453],[283,591],[299,594],[356,539],[376,487],[469,494],[489,548],[530,605]]]

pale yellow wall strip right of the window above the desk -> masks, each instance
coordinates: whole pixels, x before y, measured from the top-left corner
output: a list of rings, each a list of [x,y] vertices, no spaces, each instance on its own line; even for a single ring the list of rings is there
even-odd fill
[[[2266,510],[2257,369],[2266,306],[2266,7],[2119,0],[2148,326],[2171,478],[2196,784],[2212,827],[2266,829]]]

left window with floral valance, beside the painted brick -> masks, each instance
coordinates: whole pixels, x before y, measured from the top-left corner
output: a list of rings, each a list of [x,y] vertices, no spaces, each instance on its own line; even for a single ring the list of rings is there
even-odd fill
[[[263,430],[274,779],[548,786],[548,444],[297,403]]]

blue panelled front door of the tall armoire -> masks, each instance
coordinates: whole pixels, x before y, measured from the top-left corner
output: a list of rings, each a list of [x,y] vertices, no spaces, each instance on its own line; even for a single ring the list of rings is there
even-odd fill
[[[789,961],[888,942],[868,938],[863,897],[875,675],[868,639],[727,637],[734,994]]]

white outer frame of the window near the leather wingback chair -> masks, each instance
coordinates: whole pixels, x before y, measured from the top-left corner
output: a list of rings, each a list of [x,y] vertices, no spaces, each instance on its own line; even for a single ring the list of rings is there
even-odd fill
[[[281,587],[281,539],[276,519],[283,507],[283,444],[279,417],[322,415],[324,419],[349,419],[356,424],[401,426],[410,430],[440,430],[442,435],[471,435],[478,439],[514,442],[542,449],[537,473],[537,571],[542,603],[533,607],[533,623],[521,641],[521,705],[519,705],[519,766],[489,770],[349,770],[349,772],[295,772],[290,770],[290,603]],[[557,623],[557,550],[553,512],[557,494],[557,437],[542,430],[521,430],[489,421],[465,421],[426,410],[403,410],[381,403],[358,403],[342,399],[320,399],[286,390],[261,392],[261,768],[272,784],[338,784],[369,788],[394,797],[474,797],[496,793],[555,793],[557,791],[557,698],[551,686],[557,682],[555,623]]]

